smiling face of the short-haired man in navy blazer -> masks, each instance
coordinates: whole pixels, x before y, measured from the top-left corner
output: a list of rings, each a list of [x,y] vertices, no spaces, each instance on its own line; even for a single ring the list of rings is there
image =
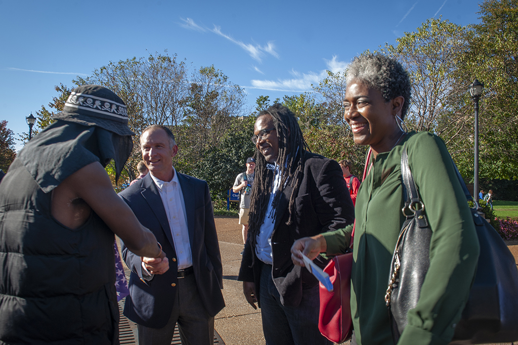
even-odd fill
[[[167,133],[161,129],[150,129],[140,137],[142,160],[151,175],[161,181],[172,180],[172,158],[178,153],[178,146],[171,147]]]

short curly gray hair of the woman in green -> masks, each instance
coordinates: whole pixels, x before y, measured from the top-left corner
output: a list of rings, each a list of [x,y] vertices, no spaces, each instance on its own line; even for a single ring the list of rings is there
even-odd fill
[[[359,79],[368,87],[380,90],[385,102],[403,96],[401,119],[407,115],[410,106],[412,85],[405,68],[396,60],[383,54],[365,54],[355,57],[349,65],[346,82]]]

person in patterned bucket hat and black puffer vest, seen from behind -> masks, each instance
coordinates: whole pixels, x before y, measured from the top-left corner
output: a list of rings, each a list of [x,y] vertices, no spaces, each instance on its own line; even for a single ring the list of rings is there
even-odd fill
[[[135,133],[124,102],[97,85],[53,118],[0,183],[0,343],[119,344],[113,233],[168,263],[104,169],[113,159],[118,180]]]

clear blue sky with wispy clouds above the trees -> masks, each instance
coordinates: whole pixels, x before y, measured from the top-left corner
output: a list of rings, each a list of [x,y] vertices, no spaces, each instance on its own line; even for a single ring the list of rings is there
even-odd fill
[[[480,2],[0,0],[0,120],[18,138],[55,85],[165,49],[194,67],[213,64],[244,88],[252,109],[260,95],[310,90],[326,70],[395,44],[428,18],[478,23]]]

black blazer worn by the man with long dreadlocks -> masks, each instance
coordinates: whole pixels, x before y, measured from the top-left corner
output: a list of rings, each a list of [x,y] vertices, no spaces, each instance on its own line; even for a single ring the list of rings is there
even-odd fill
[[[291,307],[299,305],[303,288],[318,284],[318,280],[306,268],[293,264],[290,252],[293,242],[302,237],[344,228],[354,222],[354,206],[340,165],[334,160],[309,152],[305,153],[305,158],[304,176],[295,199],[292,224],[286,225],[293,189],[288,183],[279,200],[271,235],[272,277],[281,303]],[[272,172],[268,170],[268,173]],[[325,267],[327,260],[319,255],[315,263]],[[254,282],[257,299],[260,295],[262,266],[263,262],[257,258],[248,240],[244,246],[238,280]]]

